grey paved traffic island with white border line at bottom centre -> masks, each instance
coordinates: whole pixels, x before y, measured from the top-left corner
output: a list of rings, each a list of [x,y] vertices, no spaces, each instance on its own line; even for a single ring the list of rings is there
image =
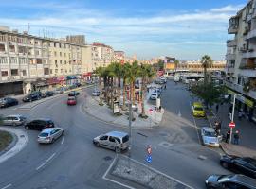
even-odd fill
[[[126,156],[118,156],[114,161],[108,174],[105,176],[109,180],[116,180],[133,188],[191,188],[150,166],[129,159]]]

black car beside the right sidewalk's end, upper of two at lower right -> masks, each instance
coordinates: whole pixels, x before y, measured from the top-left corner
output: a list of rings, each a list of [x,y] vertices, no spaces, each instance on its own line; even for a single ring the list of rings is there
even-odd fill
[[[241,173],[256,178],[256,160],[253,158],[239,158],[234,156],[223,156],[220,164],[235,173]]]

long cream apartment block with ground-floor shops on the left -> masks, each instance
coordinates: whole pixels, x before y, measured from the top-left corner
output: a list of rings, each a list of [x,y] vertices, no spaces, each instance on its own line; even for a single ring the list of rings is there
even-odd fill
[[[90,77],[91,46],[0,27],[0,96],[70,85]]]

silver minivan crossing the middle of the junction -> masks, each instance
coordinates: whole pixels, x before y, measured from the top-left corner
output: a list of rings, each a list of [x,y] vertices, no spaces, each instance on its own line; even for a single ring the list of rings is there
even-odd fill
[[[129,135],[125,132],[111,131],[93,139],[96,146],[114,149],[117,153],[129,147]]]

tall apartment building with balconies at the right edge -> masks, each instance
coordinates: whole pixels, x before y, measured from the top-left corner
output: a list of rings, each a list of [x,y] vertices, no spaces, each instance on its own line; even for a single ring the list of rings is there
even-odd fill
[[[227,41],[226,86],[243,94],[236,106],[256,121],[256,0],[229,19],[228,33],[233,38]]]

